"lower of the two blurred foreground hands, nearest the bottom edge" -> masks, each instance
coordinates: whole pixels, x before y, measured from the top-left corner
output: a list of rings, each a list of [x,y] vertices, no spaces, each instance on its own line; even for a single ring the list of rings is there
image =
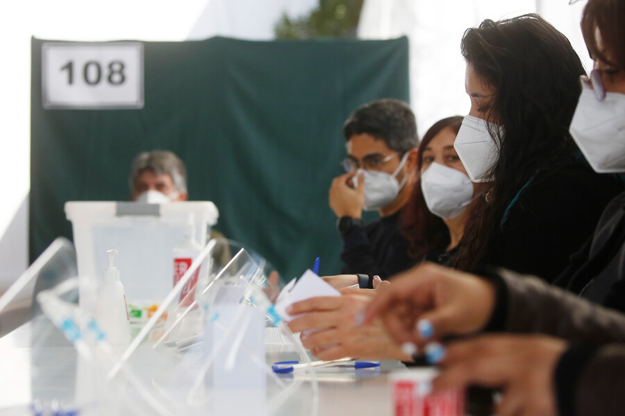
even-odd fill
[[[548,336],[489,335],[451,343],[433,391],[503,388],[497,415],[555,416],[553,372],[566,349],[565,341]]]

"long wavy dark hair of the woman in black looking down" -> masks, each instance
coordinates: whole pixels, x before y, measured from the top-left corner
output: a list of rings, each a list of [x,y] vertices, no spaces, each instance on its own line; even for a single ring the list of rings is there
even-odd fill
[[[569,124],[585,73],[565,35],[539,15],[485,20],[465,31],[462,56],[494,94],[485,118],[499,146],[492,182],[474,198],[454,266],[469,270],[499,246],[506,208],[538,171],[574,162]],[[540,182],[536,178],[534,182]],[[487,196],[487,197],[486,197]]]

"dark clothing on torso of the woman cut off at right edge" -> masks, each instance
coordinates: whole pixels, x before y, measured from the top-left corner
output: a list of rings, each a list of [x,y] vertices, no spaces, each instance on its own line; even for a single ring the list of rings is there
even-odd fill
[[[591,239],[571,258],[554,282],[613,309],[625,312],[625,193],[606,207]]]

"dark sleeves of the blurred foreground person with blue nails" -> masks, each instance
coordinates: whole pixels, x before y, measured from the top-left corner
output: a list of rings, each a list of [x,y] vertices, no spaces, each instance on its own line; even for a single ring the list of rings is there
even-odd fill
[[[506,270],[497,281],[490,331],[545,333],[572,341],[554,374],[562,416],[623,415],[625,315]],[[496,322],[499,322],[497,324]]]

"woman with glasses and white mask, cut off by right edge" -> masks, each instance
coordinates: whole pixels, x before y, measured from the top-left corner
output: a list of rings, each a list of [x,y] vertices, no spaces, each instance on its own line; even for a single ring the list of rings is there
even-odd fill
[[[582,78],[582,94],[570,131],[597,172],[625,173],[624,18],[624,1],[589,1],[581,23],[594,69],[590,77]],[[624,214],[622,193],[606,207],[592,238],[555,282],[588,300],[622,312],[625,312]]]

